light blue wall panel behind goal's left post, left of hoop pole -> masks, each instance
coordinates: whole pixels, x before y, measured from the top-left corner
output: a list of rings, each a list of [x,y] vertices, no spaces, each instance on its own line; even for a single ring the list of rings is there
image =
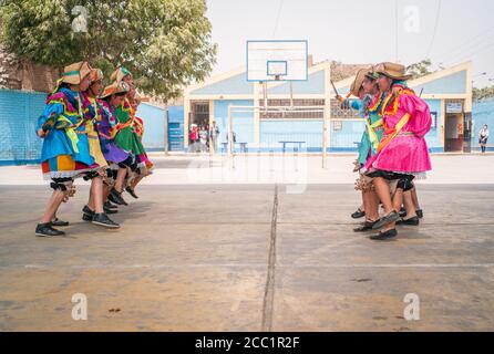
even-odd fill
[[[227,142],[228,106],[253,106],[251,100],[217,100],[215,101],[215,121],[219,128],[219,142]],[[234,132],[237,143],[254,143],[254,113],[238,112],[233,115]]]

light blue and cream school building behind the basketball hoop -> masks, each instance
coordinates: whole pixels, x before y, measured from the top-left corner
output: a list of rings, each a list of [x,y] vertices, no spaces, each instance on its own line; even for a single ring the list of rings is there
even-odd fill
[[[330,112],[328,150],[353,152],[364,124],[358,112],[340,108],[330,79],[330,62],[322,62],[310,65],[308,80],[294,82],[291,87],[288,82],[268,83],[268,105],[326,106]],[[340,95],[347,95],[352,81],[353,76],[335,82]],[[471,62],[410,81],[409,86],[430,106],[433,125],[426,140],[431,152],[470,152],[475,147],[472,129],[478,131],[478,127],[472,122]],[[228,107],[263,106],[264,98],[263,84],[248,82],[245,67],[187,87],[184,105],[168,108],[169,149],[186,150],[191,125],[208,126],[213,121],[220,131],[219,142],[226,146]],[[247,145],[249,152],[281,150],[284,142],[297,142],[307,152],[321,152],[323,146],[323,114],[317,112],[267,114],[261,110],[246,110],[233,114],[231,129],[236,142]]]

